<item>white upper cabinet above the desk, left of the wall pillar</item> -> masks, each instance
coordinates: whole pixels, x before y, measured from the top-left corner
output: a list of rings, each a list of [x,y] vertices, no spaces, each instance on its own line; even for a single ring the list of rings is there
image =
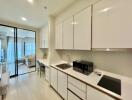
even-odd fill
[[[48,26],[40,29],[40,48],[48,48]]]

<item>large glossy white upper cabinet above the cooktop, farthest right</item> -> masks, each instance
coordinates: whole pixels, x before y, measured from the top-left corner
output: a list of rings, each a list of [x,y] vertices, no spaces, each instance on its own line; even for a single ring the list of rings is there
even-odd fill
[[[93,48],[132,48],[132,0],[102,0],[93,6]]]

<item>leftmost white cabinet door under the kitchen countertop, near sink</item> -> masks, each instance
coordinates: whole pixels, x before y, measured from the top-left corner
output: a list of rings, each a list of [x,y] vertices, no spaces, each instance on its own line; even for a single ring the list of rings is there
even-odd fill
[[[57,91],[57,69],[54,69],[52,67],[50,69],[50,84]]]

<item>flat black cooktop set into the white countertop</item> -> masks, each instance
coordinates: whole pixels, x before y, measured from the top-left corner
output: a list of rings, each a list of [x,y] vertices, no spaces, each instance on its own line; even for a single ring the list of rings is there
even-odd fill
[[[121,80],[103,75],[98,85],[108,89],[118,95],[121,95]]]

